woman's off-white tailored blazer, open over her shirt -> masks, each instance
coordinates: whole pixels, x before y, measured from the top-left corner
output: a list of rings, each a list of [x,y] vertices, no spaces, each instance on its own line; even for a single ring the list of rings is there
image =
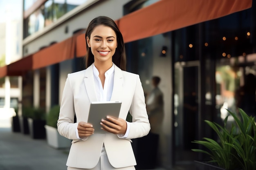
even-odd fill
[[[74,114],[76,114],[77,122],[87,122],[90,103],[97,101],[93,66],[68,74],[57,122],[60,135],[73,140],[67,166],[94,168],[99,161],[103,143],[109,162],[113,167],[122,168],[136,165],[131,139],[143,137],[150,130],[144,92],[139,75],[122,71],[116,65],[114,68],[114,86],[110,101],[122,102],[120,118],[126,119],[128,111],[130,111],[132,123],[128,137],[122,139],[112,133],[102,133],[93,134],[85,141],[76,138],[75,130],[78,123],[74,123]]]

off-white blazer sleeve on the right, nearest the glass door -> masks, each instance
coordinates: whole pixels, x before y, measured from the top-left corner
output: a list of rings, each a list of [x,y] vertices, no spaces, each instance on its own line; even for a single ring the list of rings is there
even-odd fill
[[[146,111],[144,91],[139,75],[137,75],[135,92],[129,111],[132,115],[132,123],[130,123],[130,132],[126,139],[134,139],[148,135],[150,124]]]

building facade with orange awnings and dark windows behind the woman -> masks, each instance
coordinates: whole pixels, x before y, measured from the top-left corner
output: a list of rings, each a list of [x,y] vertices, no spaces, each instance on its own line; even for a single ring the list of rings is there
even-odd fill
[[[115,20],[123,33],[127,71],[140,75],[148,105],[152,77],[160,78],[162,115],[152,119],[157,131],[150,140],[134,140],[137,169],[192,168],[203,157],[191,151],[198,147],[191,141],[214,137],[205,119],[222,122],[225,108],[255,115],[255,84],[252,104],[238,102],[247,75],[251,84],[256,76],[255,0],[29,2],[23,5],[23,58],[2,68],[22,76],[23,106],[47,112],[60,104],[67,74],[84,69],[84,33],[99,15]]]

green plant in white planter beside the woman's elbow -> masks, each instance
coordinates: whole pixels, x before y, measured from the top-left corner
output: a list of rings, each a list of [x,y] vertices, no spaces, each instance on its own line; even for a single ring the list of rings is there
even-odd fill
[[[53,106],[46,115],[46,138],[49,146],[60,149],[69,148],[71,146],[71,140],[61,136],[57,130],[58,115],[60,112],[60,106]]]

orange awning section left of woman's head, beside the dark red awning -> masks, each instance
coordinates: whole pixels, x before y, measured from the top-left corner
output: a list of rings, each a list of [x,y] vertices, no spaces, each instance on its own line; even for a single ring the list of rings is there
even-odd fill
[[[33,55],[33,69],[42,68],[74,58],[76,37],[53,44]]]

